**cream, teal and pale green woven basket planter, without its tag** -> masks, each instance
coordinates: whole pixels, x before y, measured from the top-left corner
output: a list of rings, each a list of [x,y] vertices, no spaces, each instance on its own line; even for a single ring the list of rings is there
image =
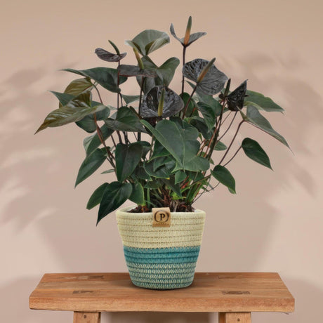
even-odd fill
[[[178,289],[194,279],[204,211],[173,212],[169,228],[152,226],[153,214],[117,211],[117,225],[131,281],[147,289]]]

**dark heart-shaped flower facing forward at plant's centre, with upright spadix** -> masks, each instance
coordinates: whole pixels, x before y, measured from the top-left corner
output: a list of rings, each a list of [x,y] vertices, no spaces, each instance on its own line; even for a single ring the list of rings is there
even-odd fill
[[[144,97],[140,107],[143,118],[171,117],[184,107],[183,100],[166,86],[154,86]]]

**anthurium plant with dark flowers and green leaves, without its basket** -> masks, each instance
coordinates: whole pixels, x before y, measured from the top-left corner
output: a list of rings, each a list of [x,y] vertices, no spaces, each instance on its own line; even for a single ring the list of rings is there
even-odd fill
[[[216,58],[185,61],[187,48],[206,34],[192,34],[191,27],[190,17],[183,38],[176,36],[173,25],[170,28],[183,49],[180,68],[176,57],[160,66],[153,62],[150,53],[169,44],[170,37],[147,29],[126,41],[132,47],[131,65],[121,64],[126,53],[109,41],[113,53],[103,48],[95,53],[111,66],[66,69],[78,78],[65,91],[53,91],[59,107],[48,114],[37,133],[70,123],[91,133],[84,139],[86,157],[75,185],[108,165],[103,184],[87,204],[87,209],[100,205],[98,222],[128,199],[138,205],[135,212],[164,206],[183,212],[192,211],[194,202],[219,184],[235,194],[228,164],[238,152],[271,169],[268,155],[252,138],[244,138],[232,152],[243,125],[256,127],[289,147],[263,116],[263,112],[283,112],[282,107],[248,90],[247,81],[232,89],[231,79],[214,65]],[[176,69],[182,73],[180,93],[171,84]],[[121,90],[131,77],[136,77],[138,93]],[[103,102],[101,91],[110,93],[109,103]],[[231,127],[236,130],[229,131]],[[108,183],[107,173],[114,173],[115,180]]]

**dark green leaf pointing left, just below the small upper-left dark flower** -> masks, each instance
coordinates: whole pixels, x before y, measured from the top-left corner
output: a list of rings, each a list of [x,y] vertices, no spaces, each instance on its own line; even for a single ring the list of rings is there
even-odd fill
[[[100,86],[103,86],[103,88],[106,88],[111,92],[120,92],[120,88],[117,86],[118,71],[114,68],[95,67],[89,70],[73,70],[72,68],[67,68],[63,71],[79,74],[84,77],[89,77],[90,79],[93,79],[94,81],[98,82]],[[119,84],[124,83],[126,79],[126,77],[119,77]]]

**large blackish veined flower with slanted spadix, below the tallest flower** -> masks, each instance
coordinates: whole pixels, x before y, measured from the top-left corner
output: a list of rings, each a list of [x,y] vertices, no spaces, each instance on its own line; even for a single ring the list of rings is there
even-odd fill
[[[197,58],[183,66],[184,77],[195,81],[197,83],[197,91],[202,91],[202,93],[207,95],[214,95],[220,92],[228,80],[228,77],[213,65],[214,60],[215,58],[211,61]]]

